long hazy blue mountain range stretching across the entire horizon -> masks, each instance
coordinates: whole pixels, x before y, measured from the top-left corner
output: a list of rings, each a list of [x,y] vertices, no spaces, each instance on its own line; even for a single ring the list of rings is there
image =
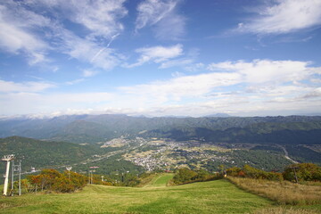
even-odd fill
[[[210,142],[319,144],[320,132],[320,116],[145,118],[104,114],[0,119],[0,137],[71,143],[97,143],[119,136],[160,136]]]

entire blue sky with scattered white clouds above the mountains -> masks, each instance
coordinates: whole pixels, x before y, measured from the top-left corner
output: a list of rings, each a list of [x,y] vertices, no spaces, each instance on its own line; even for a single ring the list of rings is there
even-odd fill
[[[0,116],[321,114],[321,0],[0,0]]]

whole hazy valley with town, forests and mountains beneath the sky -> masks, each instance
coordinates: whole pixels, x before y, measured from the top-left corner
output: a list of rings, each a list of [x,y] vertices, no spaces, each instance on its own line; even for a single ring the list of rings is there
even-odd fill
[[[95,165],[101,174],[181,167],[214,172],[245,164],[282,171],[295,162],[321,163],[321,117],[75,115],[2,119],[0,130],[0,155],[15,153],[26,171],[72,165],[86,173]]]

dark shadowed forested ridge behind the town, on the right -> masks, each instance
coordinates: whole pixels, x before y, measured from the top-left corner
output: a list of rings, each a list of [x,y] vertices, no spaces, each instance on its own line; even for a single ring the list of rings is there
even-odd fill
[[[258,123],[244,128],[161,128],[142,136],[212,143],[321,144],[321,122]]]

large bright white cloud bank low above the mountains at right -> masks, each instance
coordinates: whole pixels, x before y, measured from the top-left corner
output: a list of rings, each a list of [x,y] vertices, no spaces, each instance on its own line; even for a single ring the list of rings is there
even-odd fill
[[[237,115],[317,112],[321,104],[317,86],[306,85],[319,72],[310,62],[219,62],[208,69],[210,73],[178,74],[169,80],[119,87],[117,106],[126,106],[123,100],[133,103],[133,111],[144,109],[147,114],[201,116],[213,111]]]

